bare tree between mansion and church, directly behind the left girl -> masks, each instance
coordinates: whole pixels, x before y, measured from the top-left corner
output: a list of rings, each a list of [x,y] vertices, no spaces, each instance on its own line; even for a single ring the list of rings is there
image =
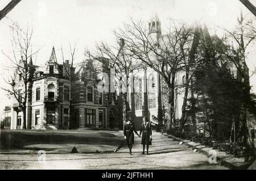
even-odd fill
[[[133,57],[129,54],[129,49],[127,44],[122,37],[119,37],[115,33],[116,41],[114,45],[108,45],[106,43],[100,43],[96,46],[96,51],[93,53],[86,50],[89,56],[97,60],[105,68],[111,68],[114,70],[114,74],[118,78],[114,83],[119,89],[119,93],[122,94],[123,98],[123,123],[128,119],[129,111],[131,110],[129,106],[129,101],[127,99],[127,94],[129,91],[129,86],[131,89],[133,87]],[[114,81],[114,80],[110,80]],[[116,94],[116,92],[112,92]],[[134,94],[134,90],[131,90],[131,94]]]

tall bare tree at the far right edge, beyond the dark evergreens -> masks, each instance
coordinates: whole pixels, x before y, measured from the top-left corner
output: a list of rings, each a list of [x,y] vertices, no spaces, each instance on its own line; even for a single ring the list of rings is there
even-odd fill
[[[240,17],[237,19],[237,27],[234,31],[229,31],[224,29],[228,36],[226,37],[226,44],[230,44],[230,40],[234,43],[232,47],[226,46],[223,54],[228,58],[228,61],[232,62],[237,69],[237,79],[238,81],[244,83],[247,86],[245,92],[245,101],[247,103],[241,104],[242,111],[240,112],[240,119],[242,121],[242,126],[240,127],[241,137],[243,141],[246,142],[249,147],[250,155],[254,157],[254,133],[252,128],[252,123],[250,120],[249,102],[250,102],[250,75],[249,68],[246,64],[247,49],[250,44],[252,44],[256,39],[256,29],[254,22],[252,20],[245,20],[241,13]],[[230,54],[232,50],[234,53]],[[238,128],[239,125],[236,125]],[[238,130],[236,128],[236,130]],[[249,159],[249,158],[248,158]]]

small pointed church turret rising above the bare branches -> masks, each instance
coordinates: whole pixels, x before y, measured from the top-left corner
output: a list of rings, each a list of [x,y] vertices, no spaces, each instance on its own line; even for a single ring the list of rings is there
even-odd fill
[[[154,18],[150,19],[148,23],[148,32],[152,37],[153,41],[158,41],[160,36],[162,35],[161,32],[161,22],[158,18],[158,15],[155,15]]]

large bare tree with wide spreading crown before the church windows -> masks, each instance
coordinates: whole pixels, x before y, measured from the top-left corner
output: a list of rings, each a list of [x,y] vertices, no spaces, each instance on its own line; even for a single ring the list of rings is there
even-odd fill
[[[142,21],[135,22],[131,19],[131,23],[126,24],[125,28],[118,32],[118,36],[125,39],[131,56],[141,60],[164,79],[165,86],[168,87],[170,115],[167,130],[171,129],[175,120],[175,89],[181,86],[175,83],[176,75],[184,69],[193,35],[193,28],[184,23],[177,26],[173,22],[172,28],[166,35],[154,40]]]

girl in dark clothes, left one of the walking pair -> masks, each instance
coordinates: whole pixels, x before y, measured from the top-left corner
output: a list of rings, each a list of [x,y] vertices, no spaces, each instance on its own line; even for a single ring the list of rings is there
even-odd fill
[[[133,148],[133,144],[134,144],[134,133],[135,132],[138,137],[139,136],[138,132],[136,131],[134,124],[131,123],[131,118],[129,118],[129,120],[126,122],[125,125],[123,125],[123,135],[125,135],[125,140],[127,142],[128,148],[130,150],[130,154],[131,154],[131,148]]]

